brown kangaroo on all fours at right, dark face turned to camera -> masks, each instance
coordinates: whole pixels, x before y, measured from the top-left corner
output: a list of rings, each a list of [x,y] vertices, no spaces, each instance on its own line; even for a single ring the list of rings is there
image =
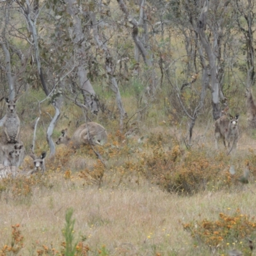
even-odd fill
[[[233,117],[232,115],[223,115],[215,122],[215,145],[218,149],[218,140],[222,138],[223,144],[226,147],[226,142],[228,142],[228,148],[237,146],[237,141],[239,137],[238,131],[238,118],[239,115]]]

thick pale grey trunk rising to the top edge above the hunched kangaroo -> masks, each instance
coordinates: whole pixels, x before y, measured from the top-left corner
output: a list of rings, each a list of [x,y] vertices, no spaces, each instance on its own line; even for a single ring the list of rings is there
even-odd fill
[[[67,3],[67,12],[72,17],[73,22],[73,33],[74,42],[76,44],[76,60],[79,62],[78,67],[78,77],[79,77],[79,84],[80,88],[83,93],[84,97],[84,104],[91,109],[92,113],[97,114],[99,111],[99,106],[97,104],[97,97],[96,93],[93,90],[92,84],[87,77],[87,63],[86,63],[86,47],[85,42],[86,38],[84,38],[83,28],[81,24],[81,19],[79,19],[77,15],[77,10],[74,8],[76,7],[77,1],[76,0],[65,0]]]

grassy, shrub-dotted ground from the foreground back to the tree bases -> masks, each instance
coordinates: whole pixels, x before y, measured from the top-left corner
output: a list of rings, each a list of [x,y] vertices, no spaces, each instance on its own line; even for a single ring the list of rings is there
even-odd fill
[[[131,116],[136,102],[124,102]],[[239,120],[237,151],[227,156],[221,141],[220,150],[215,150],[211,116],[198,120],[193,146],[186,148],[188,120],[172,124],[164,111],[159,111],[162,107],[159,102],[143,121],[137,120],[136,133],[129,139],[118,132],[115,118],[99,116],[93,120],[104,125],[109,134],[108,145],[98,148],[106,168],[90,147],[74,154],[61,145],[55,159],[46,159],[44,176],[0,182],[0,248],[12,243],[12,225],[19,223],[24,247],[18,255],[40,255],[37,251],[42,246],[60,252],[69,207],[74,209],[76,220],[74,236],[83,237],[90,248],[88,255],[227,255],[228,250],[244,243],[233,237],[233,243],[224,239],[210,247],[192,237],[183,225],[216,221],[220,213],[232,216],[237,209],[256,216],[256,140],[253,131],[246,131],[246,116]],[[50,106],[43,108],[42,113],[51,112]],[[72,134],[79,116],[77,109],[64,106],[54,140],[66,127]],[[47,150],[47,118],[42,115],[40,120],[36,152]],[[28,148],[33,129],[26,120],[29,116],[22,120],[22,140]],[[143,143],[138,143],[146,134]],[[31,162],[26,157],[24,168],[30,168]],[[241,184],[237,177],[246,163],[250,164],[249,184]],[[228,173],[231,165],[237,176]]]

